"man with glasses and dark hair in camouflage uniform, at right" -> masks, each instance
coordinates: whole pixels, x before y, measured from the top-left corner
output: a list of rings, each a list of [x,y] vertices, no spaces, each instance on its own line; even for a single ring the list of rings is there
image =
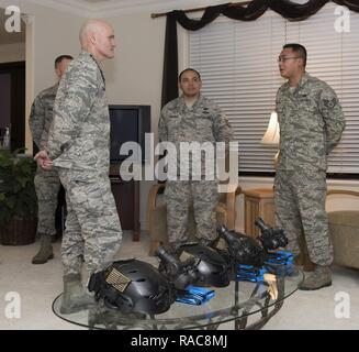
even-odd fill
[[[335,91],[305,72],[306,51],[287,44],[279,69],[288,82],[277,94],[280,155],[274,180],[276,220],[289,238],[289,250],[299,253],[303,231],[315,270],[301,289],[332,285],[333,245],[325,211],[327,155],[345,128]]]

